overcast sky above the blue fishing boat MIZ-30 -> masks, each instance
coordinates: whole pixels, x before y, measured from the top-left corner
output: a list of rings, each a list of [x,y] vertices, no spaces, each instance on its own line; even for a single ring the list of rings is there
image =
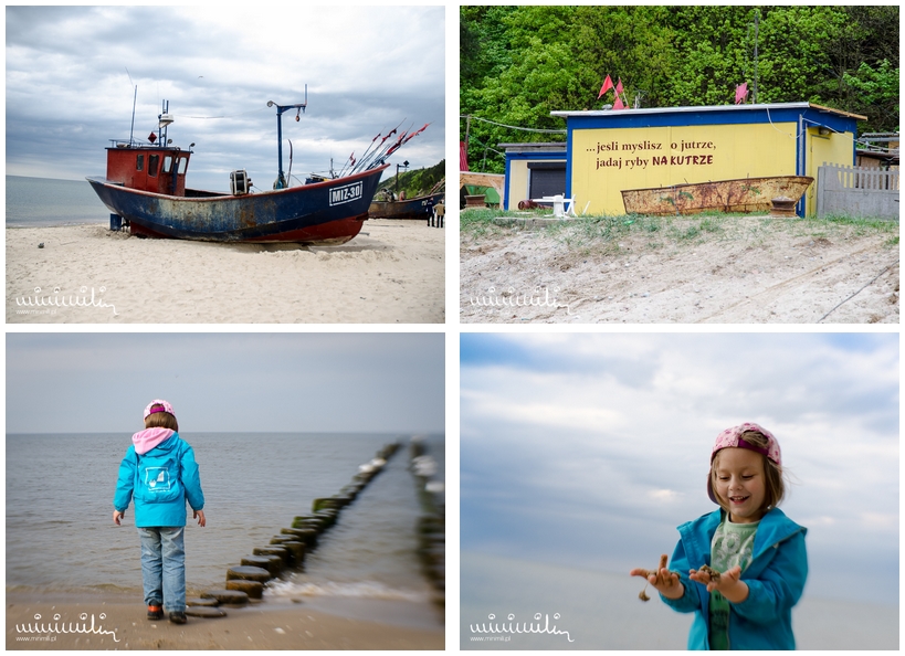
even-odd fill
[[[443,159],[444,8],[293,6],[7,7],[7,173],[64,180],[103,174],[109,139],[157,127],[161,100],[173,144],[194,142],[189,186],[225,190],[245,169],[261,189],[283,167],[337,169],[392,127],[431,126],[390,162]],[[397,162],[398,159],[398,162]],[[396,171],[396,168],[392,168]],[[385,173],[386,176],[386,173]]]

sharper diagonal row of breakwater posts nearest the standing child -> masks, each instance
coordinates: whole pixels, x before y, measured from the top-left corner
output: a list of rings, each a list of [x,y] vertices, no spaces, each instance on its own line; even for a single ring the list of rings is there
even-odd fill
[[[290,528],[280,530],[266,546],[255,547],[240,564],[227,570],[222,590],[209,590],[200,597],[186,600],[186,614],[196,617],[223,617],[222,606],[240,607],[261,601],[264,586],[282,574],[302,570],[305,557],[317,548],[320,536],[333,527],[340,511],[355,501],[359,494],[383,470],[389,458],[399,449],[391,443],[377,452],[376,457],[358,467],[351,482],[332,497],[314,499],[312,512],[295,517]]]

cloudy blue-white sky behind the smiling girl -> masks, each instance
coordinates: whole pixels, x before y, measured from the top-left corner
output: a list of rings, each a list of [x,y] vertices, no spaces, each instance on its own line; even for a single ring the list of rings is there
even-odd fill
[[[653,567],[716,509],[716,435],[754,421],[809,529],[806,594],[897,603],[898,371],[897,334],[462,335],[463,553]]]

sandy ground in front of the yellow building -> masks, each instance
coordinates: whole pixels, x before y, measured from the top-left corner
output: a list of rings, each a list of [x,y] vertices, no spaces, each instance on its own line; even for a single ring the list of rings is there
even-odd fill
[[[675,235],[701,220],[671,221]],[[745,216],[698,239],[664,232],[604,243],[569,229],[463,230],[460,319],[898,324],[897,224],[882,232]]]

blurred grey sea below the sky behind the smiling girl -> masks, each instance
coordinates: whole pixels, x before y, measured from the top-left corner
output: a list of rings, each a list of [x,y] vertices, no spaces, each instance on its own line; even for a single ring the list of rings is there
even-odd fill
[[[639,600],[641,579],[473,552],[460,556],[460,570],[462,649],[686,648],[692,616],[650,588],[650,601]],[[515,632],[525,623],[535,633]],[[897,650],[898,605],[813,599],[806,591],[792,629],[799,649]]]

